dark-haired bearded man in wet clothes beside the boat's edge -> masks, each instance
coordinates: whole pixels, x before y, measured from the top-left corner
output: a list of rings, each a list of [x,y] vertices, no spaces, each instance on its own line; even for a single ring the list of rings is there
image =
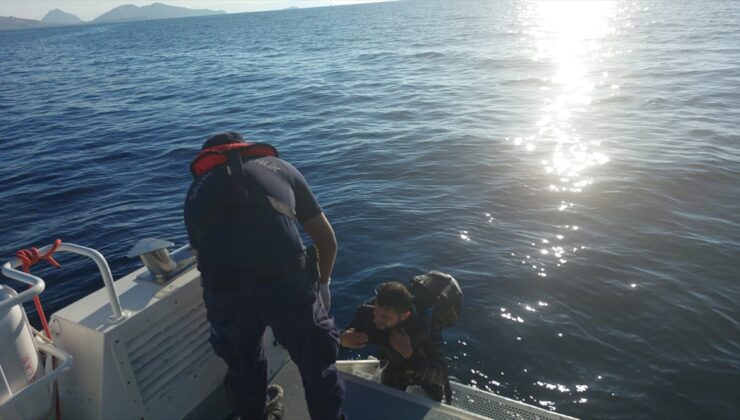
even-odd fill
[[[403,284],[382,284],[375,298],[357,308],[340,341],[350,349],[376,345],[378,359],[385,364],[383,384],[402,390],[419,385],[432,399],[447,397],[449,402],[441,332],[415,313],[412,299]]]

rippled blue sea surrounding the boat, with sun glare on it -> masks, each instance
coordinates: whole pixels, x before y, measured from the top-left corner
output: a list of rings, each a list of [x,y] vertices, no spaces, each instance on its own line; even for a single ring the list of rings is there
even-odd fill
[[[0,32],[0,256],[116,277],[188,164],[273,143],[380,281],[466,292],[452,374],[582,418],[740,417],[740,4],[403,1]],[[101,287],[61,255],[47,313]],[[348,354],[357,357],[357,354]]]

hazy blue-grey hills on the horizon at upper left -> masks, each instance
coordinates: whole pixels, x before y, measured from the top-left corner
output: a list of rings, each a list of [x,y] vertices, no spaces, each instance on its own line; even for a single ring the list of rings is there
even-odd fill
[[[169,6],[163,3],[152,3],[148,6],[126,4],[103,13],[90,22],[63,10],[54,9],[43,19],[21,19],[0,16],[0,31],[13,29],[30,29],[62,25],[82,25],[85,23],[134,22],[140,20],[174,19],[194,16],[211,16],[226,14],[223,10],[188,9],[187,7]]]

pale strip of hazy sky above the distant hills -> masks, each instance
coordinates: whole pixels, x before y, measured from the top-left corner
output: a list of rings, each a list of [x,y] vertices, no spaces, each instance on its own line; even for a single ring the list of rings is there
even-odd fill
[[[49,10],[62,9],[92,20],[108,10],[123,4],[145,6],[155,2],[191,9],[224,10],[227,13],[256,12],[287,7],[316,7],[328,5],[369,3],[379,0],[0,0],[0,16],[41,19]],[[382,0],[381,0],[382,1]]]

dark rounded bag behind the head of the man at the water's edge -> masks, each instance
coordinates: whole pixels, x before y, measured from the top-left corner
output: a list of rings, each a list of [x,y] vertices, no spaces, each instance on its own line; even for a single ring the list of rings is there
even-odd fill
[[[431,320],[446,328],[460,317],[463,293],[457,280],[449,274],[430,271],[411,279],[409,291],[419,313],[431,311]]]

